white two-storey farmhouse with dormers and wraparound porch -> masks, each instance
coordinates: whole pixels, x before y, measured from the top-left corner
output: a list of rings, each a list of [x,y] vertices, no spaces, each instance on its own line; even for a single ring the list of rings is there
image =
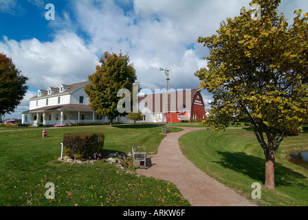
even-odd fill
[[[89,98],[84,87],[89,81],[58,88],[39,89],[37,96],[30,98],[29,111],[24,111],[23,124],[72,124],[76,122],[109,122],[89,107]],[[114,121],[118,121],[115,118]]]

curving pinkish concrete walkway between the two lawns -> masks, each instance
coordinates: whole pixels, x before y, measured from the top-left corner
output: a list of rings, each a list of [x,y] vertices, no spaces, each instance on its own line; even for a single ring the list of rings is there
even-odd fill
[[[181,153],[178,138],[184,133],[203,128],[181,129],[184,130],[168,133],[159,145],[157,155],[149,156],[153,166],[146,169],[138,168],[137,173],[172,182],[184,198],[190,201],[191,206],[256,206],[208,177]]]

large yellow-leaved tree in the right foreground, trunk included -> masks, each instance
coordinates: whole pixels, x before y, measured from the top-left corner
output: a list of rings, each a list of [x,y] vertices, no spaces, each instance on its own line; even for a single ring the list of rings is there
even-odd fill
[[[265,187],[274,189],[274,162],[285,130],[307,124],[308,13],[294,12],[287,23],[278,14],[280,0],[254,0],[261,18],[241,9],[221,23],[217,34],[199,37],[210,49],[208,67],[195,73],[213,94],[210,116],[203,122],[223,131],[245,113],[265,155]]]

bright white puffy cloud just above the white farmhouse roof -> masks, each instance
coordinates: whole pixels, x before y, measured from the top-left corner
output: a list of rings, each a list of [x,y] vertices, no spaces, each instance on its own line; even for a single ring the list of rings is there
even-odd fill
[[[4,36],[0,48],[29,78],[27,85],[40,89],[87,80],[98,65],[98,58],[72,32],[61,32],[52,42],[17,42]]]

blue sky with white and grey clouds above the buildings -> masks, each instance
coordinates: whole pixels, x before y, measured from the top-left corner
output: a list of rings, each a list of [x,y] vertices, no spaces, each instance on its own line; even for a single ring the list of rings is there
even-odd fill
[[[38,89],[88,80],[104,52],[128,54],[142,89],[166,88],[159,67],[169,68],[170,88],[194,89],[206,67],[206,47],[221,21],[250,9],[250,0],[0,0],[0,52],[10,58],[29,87],[15,112],[21,118]],[[50,8],[48,4],[52,4]],[[307,0],[282,0],[292,23]],[[52,12],[54,12],[54,17]],[[203,100],[212,97],[202,90]]]

